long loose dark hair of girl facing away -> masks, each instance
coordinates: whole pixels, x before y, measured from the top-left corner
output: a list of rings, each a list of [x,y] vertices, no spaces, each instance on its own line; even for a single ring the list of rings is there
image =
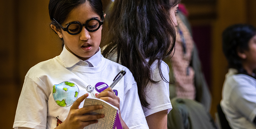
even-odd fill
[[[170,9],[180,0],[115,0],[105,20],[102,55],[106,58],[117,52],[117,62],[133,74],[142,106],[148,107],[146,87],[152,79],[150,66],[168,56],[175,44],[176,34]],[[147,60],[148,59],[148,60]]]

